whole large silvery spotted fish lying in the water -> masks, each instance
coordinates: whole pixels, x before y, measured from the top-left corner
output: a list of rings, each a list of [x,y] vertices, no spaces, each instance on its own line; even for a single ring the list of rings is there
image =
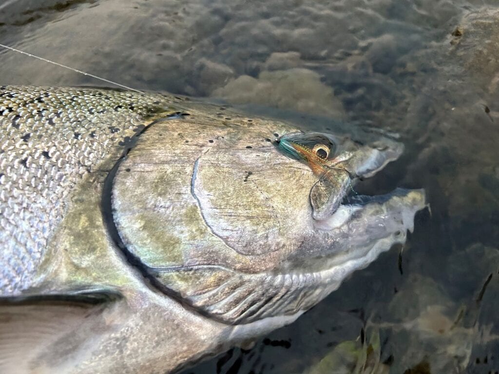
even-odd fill
[[[291,323],[425,206],[341,202],[402,152],[372,134],[94,88],[1,87],[0,114],[1,373],[177,371]],[[325,184],[286,134],[348,173]]]

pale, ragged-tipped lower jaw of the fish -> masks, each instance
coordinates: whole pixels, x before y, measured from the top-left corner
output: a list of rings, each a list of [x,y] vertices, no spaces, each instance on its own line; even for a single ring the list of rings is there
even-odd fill
[[[414,230],[415,214],[427,206],[424,189],[349,194],[329,217],[313,220],[324,249],[306,259],[301,269],[320,274],[320,283],[331,292],[348,274],[365,268],[395,244],[404,244],[407,232]]]

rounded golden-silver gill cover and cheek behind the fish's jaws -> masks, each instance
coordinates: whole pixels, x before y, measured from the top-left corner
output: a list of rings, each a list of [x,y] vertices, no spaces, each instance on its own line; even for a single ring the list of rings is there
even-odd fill
[[[303,291],[312,280],[276,273],[310,229],[297,222],[310,221],[316,177],[266,140],[279,126],[202,120],[155,124],[120,163],[120,247],[155,287],[226,323],[308,309],[300,298],[315,292]]]

